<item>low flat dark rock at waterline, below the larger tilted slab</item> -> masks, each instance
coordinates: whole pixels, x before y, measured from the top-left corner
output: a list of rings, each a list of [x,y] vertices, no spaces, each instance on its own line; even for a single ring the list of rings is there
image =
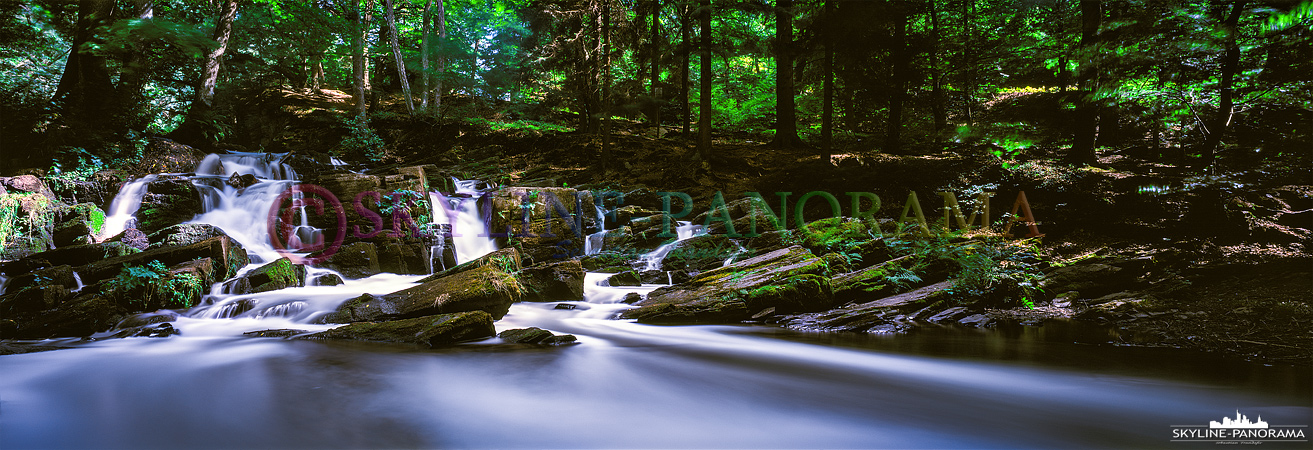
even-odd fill
[[[494,335],[496,331],[492,328],[492,316],[483,311],[470,311],[382,323],[361,321],[295,338],[399,342],[436,348]]]

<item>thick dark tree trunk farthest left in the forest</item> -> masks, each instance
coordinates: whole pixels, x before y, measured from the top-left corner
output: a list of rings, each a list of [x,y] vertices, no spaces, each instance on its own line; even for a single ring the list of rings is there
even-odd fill
[[[62,110],[72,129],[98,130],[109,125],[114,84],[105,56],[91,51],[89,45],[98,41],[96,31],[113,21],[113,0],[77,3],[77,33],[54,96],[55,101],[63,101]]]

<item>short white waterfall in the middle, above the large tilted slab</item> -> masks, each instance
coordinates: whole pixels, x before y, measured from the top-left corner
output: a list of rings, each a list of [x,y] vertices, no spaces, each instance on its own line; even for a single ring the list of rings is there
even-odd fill
[[[435,205],[441,206],[433,209],[433,223],[450,226],[456,262],[462,264],[495,252],[496,241],[488,234],[488,223],[479,211],[479,201],[486,190],[478,189],[477,180],[454,181],[456,194],[452,197],[442,193],[432,193],[429,197]]]

